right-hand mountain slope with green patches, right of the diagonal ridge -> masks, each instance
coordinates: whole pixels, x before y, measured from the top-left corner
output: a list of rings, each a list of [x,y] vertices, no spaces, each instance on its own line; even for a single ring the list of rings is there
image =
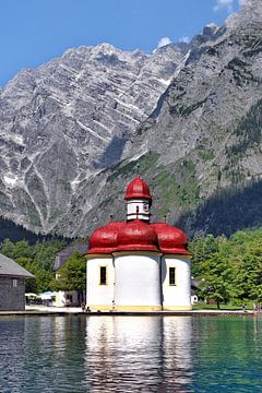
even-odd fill
[[[126,159],[94,180],[104,214],[119,217],[121,183],[139,164],[154,188],[154,221],[166,214],[189,235],[262,225],[261,17],[261,2],[247,1],[239,15],[193,38],[157,107],[126,144]],[[97,210],[84,219],[94,217],[103,219]]]

